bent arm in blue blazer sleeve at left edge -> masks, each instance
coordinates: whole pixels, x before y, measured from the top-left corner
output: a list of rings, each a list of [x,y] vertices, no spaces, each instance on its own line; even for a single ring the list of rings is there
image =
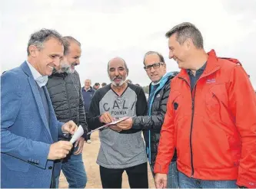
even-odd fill
[[[10,130],[15,124],[22,106],[22,86],[15,73],[5,73],[1,77],[1,153],[11,155],[30,163],[38,160],[35,166],[45,168],[50,144],[33,141]],[[24,127],[25,125],[18,125]]]

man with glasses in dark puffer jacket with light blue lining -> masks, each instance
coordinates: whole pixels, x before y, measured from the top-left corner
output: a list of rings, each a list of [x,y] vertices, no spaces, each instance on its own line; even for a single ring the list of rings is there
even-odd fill
[[[145,54],[144,65],[144,69],[151,80],[148,96],[148,116],[137,116],[133,118],[132,124],[137,129],[144,130],[143,134],[147,145],[148,161],[153,173],[155,158],[158,153],[161,125],[165,119],[166,104],[170,93],[170,83],[171,79],[178,73],[166,73],[165,59],[155,51],[149,51]],[[129,122],[129,120],[118,124],[120,129],[125,129],[128,126],[126,122]],[[178,187],[176,158],[175,154],[169,165],[168,188]]]

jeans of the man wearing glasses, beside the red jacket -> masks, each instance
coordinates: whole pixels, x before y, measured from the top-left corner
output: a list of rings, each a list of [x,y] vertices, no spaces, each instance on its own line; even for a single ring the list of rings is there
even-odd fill
[[[151,171],[155,178],[154,166],[151,165]],[[171,161],[167,175],[167,188],[178,188],[178,170],[176,161]]]

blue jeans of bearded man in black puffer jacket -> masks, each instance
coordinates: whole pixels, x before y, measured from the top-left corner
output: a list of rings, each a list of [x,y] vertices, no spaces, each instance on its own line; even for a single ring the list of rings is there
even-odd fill
[[[63,160],[62,172],[68,181],[69,188],[85,188],[87,183],[85,165],[82,161],[82,154],[73,154],[76,150],[77,148],[71,151],[71,155]],[[58,188],[59,178],[56,178],[56,180],[56,187]]]

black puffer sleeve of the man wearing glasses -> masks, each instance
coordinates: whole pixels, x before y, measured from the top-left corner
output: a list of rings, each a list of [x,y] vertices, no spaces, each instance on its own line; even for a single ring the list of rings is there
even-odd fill
[[[133,119],[133,129],[154,129],[155,131],[161,131],[161,125],[163,125],[165,119],[165,113],[167,108],[168,96],[170,93],[171,85],[168,84],[164,88],[164,94],[161,97],[161,101],[158,107],[158,115],[154,116],[137,116]]]

